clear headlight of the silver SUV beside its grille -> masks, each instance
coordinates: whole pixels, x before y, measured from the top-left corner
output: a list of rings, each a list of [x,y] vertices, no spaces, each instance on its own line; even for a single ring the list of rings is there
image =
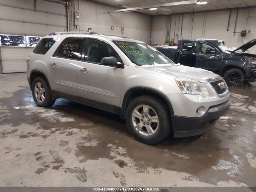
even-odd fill
[[[209,97],[208,90],[199,81],[186,79],[186,78],[175,78],[182,93],[200,95],[202,97]]]

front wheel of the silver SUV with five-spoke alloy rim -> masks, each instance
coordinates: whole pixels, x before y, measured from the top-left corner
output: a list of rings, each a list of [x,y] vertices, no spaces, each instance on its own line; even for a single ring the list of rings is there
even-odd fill
[[[148,113],[144,112],[146,110],[142,111],[144,106],[149,106]],[[149,116],[146,116],[146,114]],[[152,118],[153,116],[154,118]],[[156,123],[157,120],[158,123]],[[147,95],[134,98],[129,103],[126,109],[126,125],[136,140],[146,144],[158,144],[167,138],[172,130],[166,104],[155,97]]]

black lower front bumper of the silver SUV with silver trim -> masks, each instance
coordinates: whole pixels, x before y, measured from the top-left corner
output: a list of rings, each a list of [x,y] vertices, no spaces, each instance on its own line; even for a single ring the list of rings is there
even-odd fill
[[[189,137],[206,132],[228,111],[229,106],[230,100],[210,107],[204,116],[196,118],[172,115],[174,137]]]

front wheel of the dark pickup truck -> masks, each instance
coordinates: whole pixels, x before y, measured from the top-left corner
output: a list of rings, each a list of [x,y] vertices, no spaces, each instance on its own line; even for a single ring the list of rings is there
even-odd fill
[[[229,86],[243,86],[244,72],[238,68],[229,69],[224,73],[224,80]]]

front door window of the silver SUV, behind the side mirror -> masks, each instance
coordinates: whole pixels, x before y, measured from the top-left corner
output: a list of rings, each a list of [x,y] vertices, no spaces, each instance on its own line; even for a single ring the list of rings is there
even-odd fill
[[[89,39],[86,45],[84,60],[88,62],[100,63],[104,57],[117,57],[116,51],[109,44],[97,40]]]

